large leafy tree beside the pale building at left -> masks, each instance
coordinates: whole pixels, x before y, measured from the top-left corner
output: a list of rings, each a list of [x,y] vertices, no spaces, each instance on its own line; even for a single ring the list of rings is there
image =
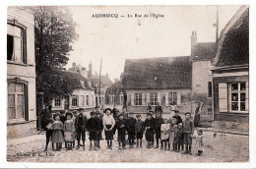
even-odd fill
[[[66,7],[33,7],[36,91],[44,101],[63,97],[73,90],[72,82],[61,74],[68,63],[72,43],[78,39],[75,22]]]

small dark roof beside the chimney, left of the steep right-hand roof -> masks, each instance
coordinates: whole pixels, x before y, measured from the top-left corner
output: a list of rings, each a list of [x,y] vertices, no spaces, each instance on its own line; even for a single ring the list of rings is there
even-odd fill
[[[200,42],[194,47],[193,60],[211,60],[215,56],[216,42]]]

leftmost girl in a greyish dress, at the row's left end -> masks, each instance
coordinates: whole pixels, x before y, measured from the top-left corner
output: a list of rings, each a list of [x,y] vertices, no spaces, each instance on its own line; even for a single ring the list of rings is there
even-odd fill
[[[60,115],[58,113],[54,114],[53,119],[55,120],[52,123],[52,143],[56,143],[56,149],[60,151],[61,149],[61,145],[63,140],[63,135],[62,135],[62,130],[63,130],[63,124],[60,121]]]

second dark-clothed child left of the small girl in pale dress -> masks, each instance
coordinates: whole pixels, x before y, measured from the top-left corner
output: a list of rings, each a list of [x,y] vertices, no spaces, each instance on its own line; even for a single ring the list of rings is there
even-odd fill
[[[153,147],[155,122],[151,113],[147,113],[145,120],[147,148]]]

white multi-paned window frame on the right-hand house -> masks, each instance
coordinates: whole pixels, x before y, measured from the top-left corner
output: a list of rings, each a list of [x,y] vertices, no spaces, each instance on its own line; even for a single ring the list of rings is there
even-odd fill
[[[232,84],[237,84],[237,90],[232,90],[231,88],[231,85]],[[245,84],[245,87],[244,87],[244,90],[241,90],[241,84]],[[231,113],[248,113],[248,111],[246,111],[246,104],[248,104],[246,102],[246,82],[233,82],[233,83],[228,83],[228,112],[231,112]],[[237,93],[238,95],[238,99],[237,101],[232,101],[232,93]],[[244,93],[245,94],[245,97],[244,97],[244,101],[241,101],[241,93]],[[237,102],[238,104],[238,110],[232,110],[232,102]],[[244,105],[244,110],[241,110],[241,102],[244,102],[245,105]]]

